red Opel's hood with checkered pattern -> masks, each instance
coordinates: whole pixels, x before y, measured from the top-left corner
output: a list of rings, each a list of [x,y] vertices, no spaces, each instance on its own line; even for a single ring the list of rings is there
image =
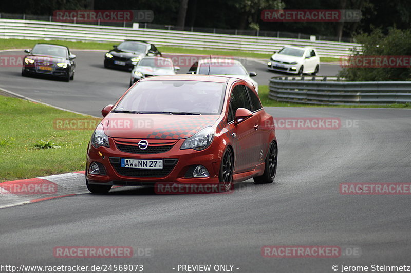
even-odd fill
[[[113,138],[183,139],[213,125],[218,117],[109,113],[102,123],[104,133]]]

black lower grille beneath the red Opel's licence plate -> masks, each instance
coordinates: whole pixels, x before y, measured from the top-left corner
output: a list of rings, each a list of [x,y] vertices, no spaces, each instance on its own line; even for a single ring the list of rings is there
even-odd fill
[[[163,169],[134,169],[121,167],[120,157],[110,157],[110,163],[119,175],[128,177],[164,177],[170,174],[178,159],[164,159]]]

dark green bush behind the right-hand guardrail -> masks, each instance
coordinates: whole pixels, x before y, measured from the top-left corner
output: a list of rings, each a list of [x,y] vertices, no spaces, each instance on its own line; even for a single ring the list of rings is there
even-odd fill
[[[373,30],[371,34],[360,34],[355,39],[362,45],[362,50],[353,49],[348,60],[348,66],[343,67],[339,77],[347,81],[407,81],[411,80],[411,68],[388,67],[353,67],[350,66],[358,56],[403,56],[411,57],[411,31],[390,29],[384,35],[380,29]],[[408,59],[409,60],[409,59]],[[405,62],[404,62],[405,64]]]

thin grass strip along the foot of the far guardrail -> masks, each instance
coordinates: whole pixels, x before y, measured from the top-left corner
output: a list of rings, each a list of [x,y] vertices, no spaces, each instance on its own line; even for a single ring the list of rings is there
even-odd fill
[[[113,45],[119,43],[96,43],[83,41],[63,41],[63,40],[27,40],[27,39],[0,39],[0,50],[3,49],[31,49],[37,43],[50,43],[67,46],[69,49],[101,49],[110,50]],[[269,59],[271,54],[253,53],[239,50],[207,50],[207,49],[187,49],[177,47],[158,47],[160,52],[164,53],[182,53],[182,54],[202,54],[202,55],[225,55],[234,57],[251,57]],[[338,58],[321,57],[322,62],[336,62]]]

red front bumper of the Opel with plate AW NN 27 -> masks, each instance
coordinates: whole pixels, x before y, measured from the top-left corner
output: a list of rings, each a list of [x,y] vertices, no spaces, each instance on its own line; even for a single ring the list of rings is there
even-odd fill
[[[86,170],[89,169],[92,162],[96,162],[104,166],[105,174],[92,175],[87,171],[87,181],[89,184],[126,186],[154,186],[159,182],[217,185],[221,158],[211,152],[215,150],[213,148],[214,143],[203,151],[193,149],[180,150],[183,141],[184,139],[179,139],[171,150],[157,154],[134,154],[120,151],[111,138],[109,140],[110,148],[95,148],[89,143]],[[121,158],[162,159],[163,169],[121,167]],[[190,176],[194,171],[194,166],[197,165],[206,167],[210,176],[199,178]]]

